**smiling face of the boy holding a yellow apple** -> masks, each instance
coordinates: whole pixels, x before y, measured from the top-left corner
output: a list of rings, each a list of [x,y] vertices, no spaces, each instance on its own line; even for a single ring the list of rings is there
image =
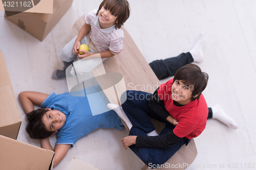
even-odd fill
[[[108,9],[106,9],[104,5],[99,10],[98,16],[99,16],[99,25],[101,29],[109,28],[111,26],[114,26],[116,23],[117,16],[115,16],[115,14],[113,14]]]

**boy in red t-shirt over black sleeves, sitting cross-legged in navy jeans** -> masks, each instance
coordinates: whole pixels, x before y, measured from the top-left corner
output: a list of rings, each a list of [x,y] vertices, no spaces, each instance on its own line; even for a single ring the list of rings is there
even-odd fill
[[[121,140],[124,149],[130,147],[149,167],[157,166],[172,157],[183,144],[199,136],[207,118],[222,111],[220,106],[207,108],[202,95],[207,81],[208,75],[197,65],[187,64],[153,94],[128,90],[121,96],[122,108],[108,104],[130,129],[129,136]],[[166,125],[159,135],[150,117]],[[234,123],[233,129],[236,128]]]

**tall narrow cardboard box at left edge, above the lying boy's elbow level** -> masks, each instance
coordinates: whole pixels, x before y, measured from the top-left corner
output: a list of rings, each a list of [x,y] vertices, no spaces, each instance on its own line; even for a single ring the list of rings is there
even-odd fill
[[[0,51],[0,117],[0,135],[17,139],[22,119],[20,119],[18,106],[2,51]]]

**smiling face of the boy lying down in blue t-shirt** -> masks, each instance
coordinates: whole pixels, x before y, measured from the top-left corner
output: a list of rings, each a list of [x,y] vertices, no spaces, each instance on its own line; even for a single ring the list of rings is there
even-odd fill
[[[45,124],[46,130],[55,132],[59,130],[66,122],[66,115],[58,110],[48,111],[42,116],[42,123]]]

